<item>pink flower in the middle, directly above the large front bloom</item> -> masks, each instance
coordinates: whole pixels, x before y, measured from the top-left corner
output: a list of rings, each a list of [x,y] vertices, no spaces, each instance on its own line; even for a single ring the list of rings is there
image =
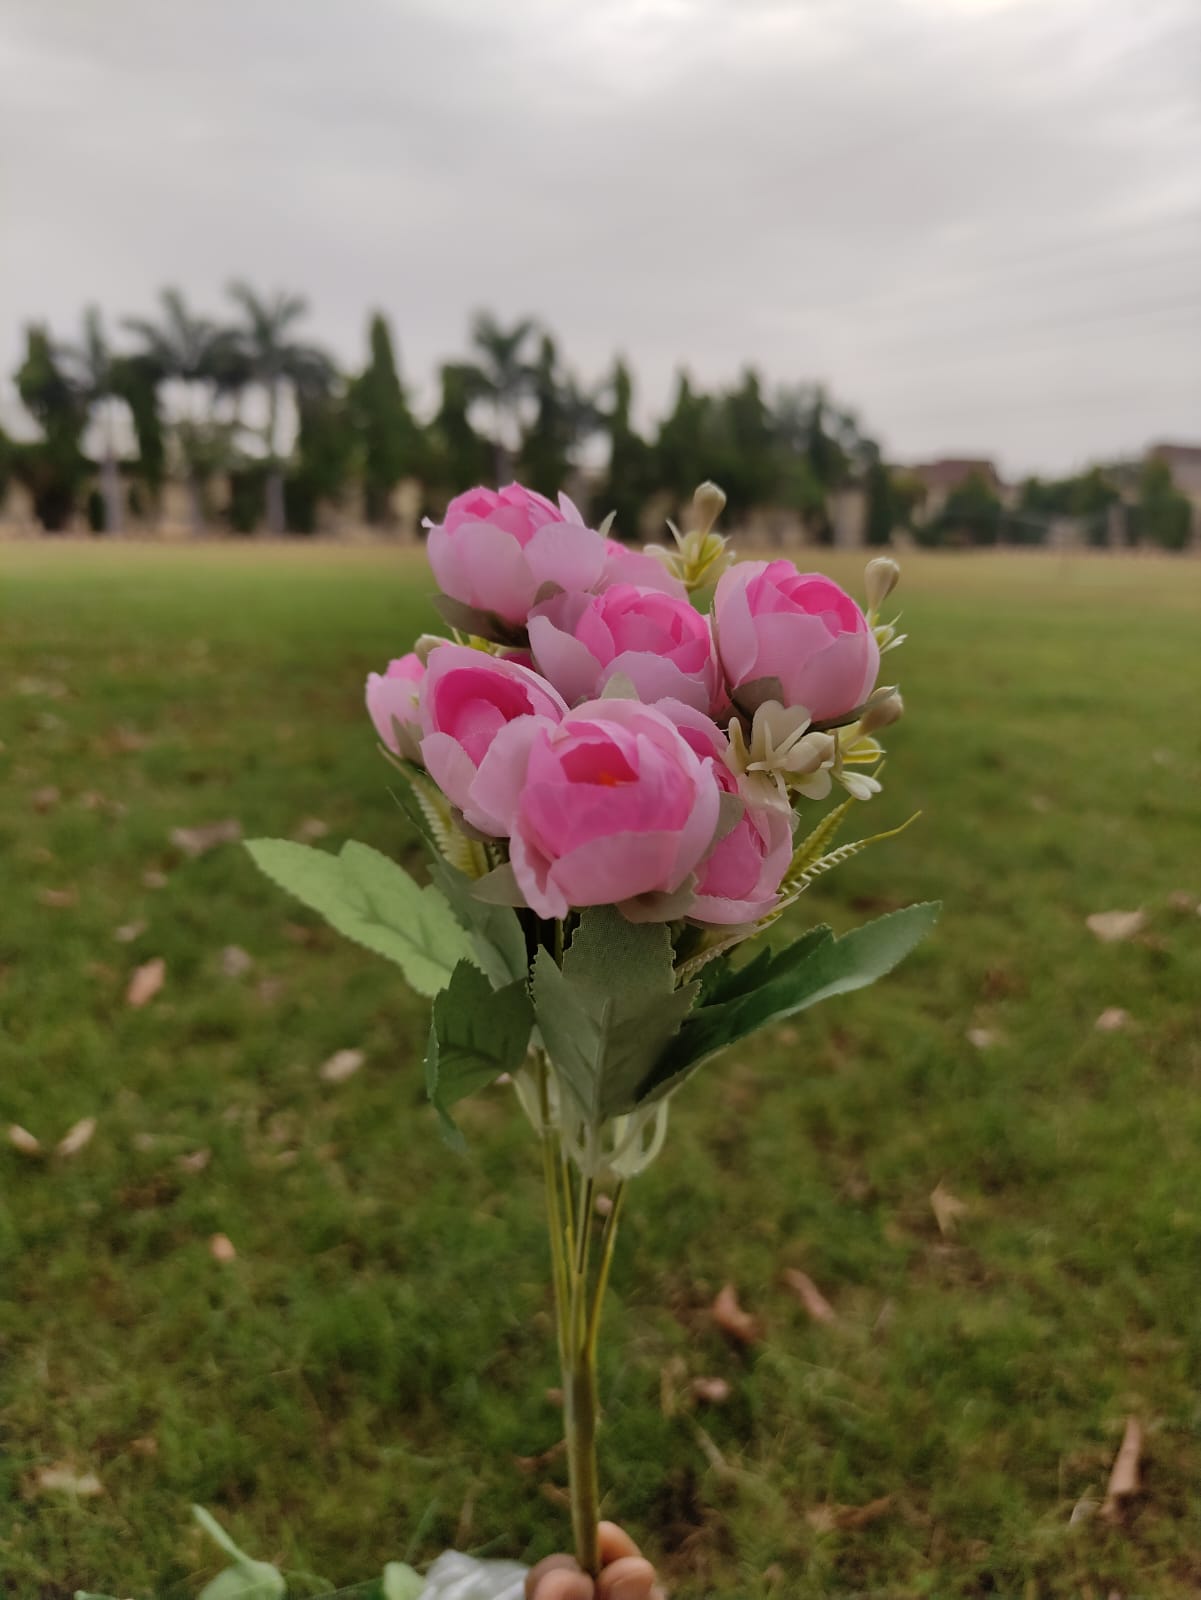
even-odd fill
[[[529,613],[529,648],[571,704],[619,674],[646,702],[670,696],[708,710],[720,690],[708,619],[659,589],[553,595]]]

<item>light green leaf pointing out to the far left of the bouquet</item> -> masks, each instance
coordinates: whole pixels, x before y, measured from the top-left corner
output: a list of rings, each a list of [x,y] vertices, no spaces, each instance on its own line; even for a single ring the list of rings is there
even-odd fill
[[[397,962],[422,995],[446,986],[472,947],[437,888],[419,888],[403,867],[353,840],[341,856],[286,838],[246,843],[256,864],[280,888],[349,939]]]

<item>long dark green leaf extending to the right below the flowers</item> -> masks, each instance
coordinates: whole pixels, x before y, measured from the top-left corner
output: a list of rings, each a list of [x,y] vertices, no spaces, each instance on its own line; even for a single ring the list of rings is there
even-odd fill
[[[760,955],[731,973],[713,1000],[684,1022],[654,1074],[640,1085],[638,1098],[670,1093],[726,1045],[883,978],[929,933],[939,910],[937,902],[908,906],[841,939],[833,939],[828,928],[812,928],[779,955]]]

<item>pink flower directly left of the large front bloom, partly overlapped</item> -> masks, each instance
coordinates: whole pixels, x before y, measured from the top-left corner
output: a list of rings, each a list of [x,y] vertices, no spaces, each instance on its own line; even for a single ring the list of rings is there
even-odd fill
[[[421,755],[430,778],[483,832],[472,782],[497,733],[515,718],[541,717],[552,725],[566,712],[555,690],[529,667],[467,645],[430,651],[421,685]]]

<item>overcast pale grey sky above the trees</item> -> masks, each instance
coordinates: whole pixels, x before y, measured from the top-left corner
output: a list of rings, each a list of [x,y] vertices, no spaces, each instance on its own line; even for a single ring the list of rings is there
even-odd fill
[[[1201,6],[5,0],[0,373],[232,277],[419,403],[488,307],[643,421],[750,363],[896,461],[1201,442]]]

